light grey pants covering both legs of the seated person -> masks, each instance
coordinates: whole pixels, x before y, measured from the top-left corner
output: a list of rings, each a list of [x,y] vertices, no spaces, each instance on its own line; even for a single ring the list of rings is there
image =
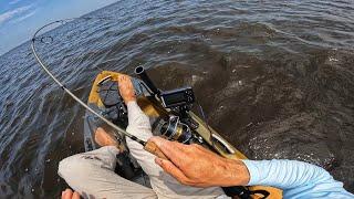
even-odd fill
[[[148,117],[135,102],[128,103],[127,108],[127,132],[147,140],[153,136]],[[196,188],[179,184],[155,164],[155,156],[145,151],[140,144],[129,138],[126,143],[131,154],[149,176],[153,189],[114,172],[118,149],[113,146],[67,157],[60,163],[58,172],[84,198],[226,198],[219,187]]]

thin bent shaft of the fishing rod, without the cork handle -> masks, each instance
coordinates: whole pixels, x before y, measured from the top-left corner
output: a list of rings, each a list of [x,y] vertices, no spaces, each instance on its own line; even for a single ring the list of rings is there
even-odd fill
[[[85,109],[87,109],[88,112],[91,112],[92,114],[94,114],[95,116],[97,116],[100,119],[102,119],[103,122],[105,122],[108,126],[111,126],[113,129],[124,134],[125,136],[129,137],[131,139],[142,144],[143,146],[146,146],[147,142],[144,142],[139,138],[137,138],[136,136],[127,133],[125,129],[118,127],[117,125],[113,124],[111,121],[106,119],[104,116],[102,116],[100,113],[95,112],[93,108],[91,108],[86,103],[82,102],[76,95],[74,95],[63,83],[61,83],[48,69],[48,66],[44,64],[44,62],[41,60],[41,57],[39,56],[37,49],[35,49],[35,41],[39,40],[38,39],[38,33],[40,31],[42,31],[43,29],[55,24],[55,23],[66,23],[67,21],[72,21],[75,19],[110,19],[110,18],[71,18],[71,19],[64,19],[64,20],[59,20],[59,21],[54,21],[51,23],[48,23],[45,25],[43,25],[42,28],[40,28],[39,30],[35,31],[35,33],[32,36],[31,40],[31,49],[33,52],[33,55],[35,57],[35,60],[38,61],[38,63],[40,64],[40,66],[44,70],[44,72],[66,93],[69,94],[73,100],[75,100],[80,105],[82,105]],[[41,42],[43,43],[48,43],[48,41],[50,41],[49,43],[51,43],[53,41],[52,36],[42,36],[40,39]]]

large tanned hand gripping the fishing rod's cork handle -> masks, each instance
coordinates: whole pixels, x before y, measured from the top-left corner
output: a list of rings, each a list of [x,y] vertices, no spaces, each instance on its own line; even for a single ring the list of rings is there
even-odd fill
[[[241,160],[220,157],[200,145],[184,145],[162,137],[152,137],[168,160],[156,157],[155,163],[179,182],[194,187],[244,186],[249,171]]]

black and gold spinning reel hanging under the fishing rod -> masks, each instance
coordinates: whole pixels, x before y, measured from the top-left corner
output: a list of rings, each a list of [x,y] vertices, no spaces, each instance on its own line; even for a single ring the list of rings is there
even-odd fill
[[[181,123],[179,117],[175,115],[169,116],[168,121],[163,124],[160,134],[169,140],[178,140],[184,144],[191,138],[189,126]]]

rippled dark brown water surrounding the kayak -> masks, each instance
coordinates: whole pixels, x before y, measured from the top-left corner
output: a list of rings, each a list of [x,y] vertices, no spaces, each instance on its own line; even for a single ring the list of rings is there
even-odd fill
[[[250,158],[327,168],[354,191],[353,1],[122,1],[39,43],[86,101],[97,67],[149,67],[190,84],[209,123]],[[41,71],[29,43],[0,56],[0,198],[58,198],[58,163],[83,151],[84,109]]]

